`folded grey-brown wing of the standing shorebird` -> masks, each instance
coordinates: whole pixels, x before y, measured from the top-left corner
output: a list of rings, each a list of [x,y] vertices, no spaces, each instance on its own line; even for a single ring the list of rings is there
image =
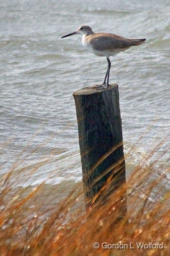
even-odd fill
[[[143,40],[144,39],[127,39],[122,36],[109,33],[98,33],[89,39],[89,43],[95,50],[106,51],[140,45]]]

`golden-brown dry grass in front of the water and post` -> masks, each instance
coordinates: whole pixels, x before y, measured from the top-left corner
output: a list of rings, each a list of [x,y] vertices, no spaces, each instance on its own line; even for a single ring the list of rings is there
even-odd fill
[[[170,193],[166,178],[169,170],[162,173],[155,169],[159,157],[148,165],[162,143],[136,166],[127,183],[106,203],[97,201],[88,212],[81,183],[72,186],[68,183],[63,188],[48,186],[45,181],[38,186],[17,186],[50,159],[25,168],[16,163],[0,181],[1,256],[169,255]],[[133,151],[134,148],[129,154]],[[110,185],[108,182],[103,191],[108,191]],[[122,212],[125,201],[121,198],[125,193],[127,215]],[[119,219],[120,214],[124,218]],[[94,242],[100,244],[99,249],[93,248]],[[103,242],[128,245],[131,242],[135,248],[104,249]],[[137,249],[136,242],[163,242],[164,249]]]

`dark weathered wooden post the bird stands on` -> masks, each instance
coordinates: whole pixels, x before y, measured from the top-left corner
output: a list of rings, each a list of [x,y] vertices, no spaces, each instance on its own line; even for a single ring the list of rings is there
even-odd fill
[[[117,84],[111,84],[106,90],[87,87],[74,92],[73,96],[88,209],[99,198],[106,201],[108,194],[126,180],[119,89]],[[106,196],[103,187],[108,179],[112,182]]]

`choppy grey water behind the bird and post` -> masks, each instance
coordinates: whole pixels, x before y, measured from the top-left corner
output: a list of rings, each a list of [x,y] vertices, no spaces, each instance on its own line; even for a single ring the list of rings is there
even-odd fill
[[[72,93],[101,83],[107,65],[105,58],[86,52],[79,35],[61,39],[81,24],[96,32],[147,38],[146,44],[111,58],[110,82],[119,84],[127,148],[151,124],[139,142],[140,153],[166,136],[170,126],[169,13],[169,0],[1,0],[2,172],[24,147],[20,159],[42,145],[25,158],[28,164],[52,154],[45,169],[37,170],[36,182],[46,178],[51,169],[55,169],[54,183],[81,178]],[[162,150],[169,146],[167,140]]]

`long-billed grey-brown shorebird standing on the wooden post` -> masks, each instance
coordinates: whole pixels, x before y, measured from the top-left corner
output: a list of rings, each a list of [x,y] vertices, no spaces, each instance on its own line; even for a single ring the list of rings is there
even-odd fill
[[[101,86],[97,86],[97,89],[107,89],[109,87],[109,74],[111,62],[109,57],[129,49],[131,46],[141,45],[146,39],[128,39],[116,34],[110,33],[94,33],[91,27],[82,25],[77,31],[64,35],[62,38],[74,35],[82,35],[82,45],[90,53],[97,56],[106,57],[108,62],[107,71],[104,77],[104,81]]]

